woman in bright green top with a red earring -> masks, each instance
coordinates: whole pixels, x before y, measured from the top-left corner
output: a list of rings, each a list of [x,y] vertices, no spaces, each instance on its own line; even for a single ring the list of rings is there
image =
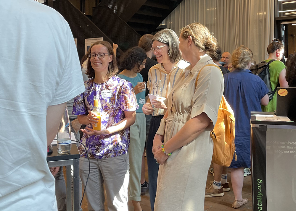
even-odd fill
[[[280,60],[283,57],[284,45],[281,41],[275,39],[267,47],[268,59],[265,61],[268,62],[271,59],[275,59],[269,65],[269,77],[272,90],[276,89],[279,84],[280,87],[289,87],[288,82],[286,81],[286,66]],[[262,111],[273,112],[276,110],[276,94],[269,101],[267,106],[261,106]]]

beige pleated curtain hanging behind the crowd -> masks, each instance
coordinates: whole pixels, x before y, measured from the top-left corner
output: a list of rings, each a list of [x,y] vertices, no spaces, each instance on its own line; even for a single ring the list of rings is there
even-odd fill
[[[165,19],[178,35],[192,22],[206,25],[222,51],[244,45],[255,61],[267,59],[266,48],[274,38],[274,0],[183,0]]]

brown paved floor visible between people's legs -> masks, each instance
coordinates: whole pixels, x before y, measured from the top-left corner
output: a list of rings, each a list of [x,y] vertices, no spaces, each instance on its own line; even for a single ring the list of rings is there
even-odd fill
[[[146,178],[148,178],[147,174],[148,173],[147,173],[147,165],[146,165]],[[213,179],[214,179],[214,177],[212,176],[212,174],[209,171],[208,176],[207,176],[207,184],[209,184],[210,181],[213,180]],[[207,210],[207,211],[221,211],[221,210],[225,210],[225,211],[231,211],[231,210],[250,211],[250,210],[252,210],[251,176],[249,175],[249,176],[244,177],[244,186],[243,186],[243,189],[242,189],[243,198],[249,199],[249,202],[247,204],[243,205],[242,207],[240,207],[239,209],[234,209],[234,208],[231,207],[231,204],[234,201],[234,194],[233,194],[232,186],[231,186],[231,173],[230,173],[230,171],[228,173],[227,181],[229,181],[230,191],[224,192],[224,196],[222,196],[222,197],[205,198],[205,208],[204,208],[204,210]],[[144,211],[151,211],[150,201],[149,201],[149,193],[147,193],[144,196],[141,196],[141,199],[142,199],[141,200],[142,209]],[[129,204],[128,211],[134,211],[131,202],[129,202],[128,204]],[[106,201],[105,201],[105,207],[106,207],[106,211],[108,211],[107,197],[106,197]],[[83,211],[88,211],[87,202],[86,202],[85,198],[83,199],[83,202],[82,202],[82,209],[83,209]]]

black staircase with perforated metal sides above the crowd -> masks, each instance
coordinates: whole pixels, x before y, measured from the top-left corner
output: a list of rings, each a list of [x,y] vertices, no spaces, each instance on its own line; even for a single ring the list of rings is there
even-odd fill
[[[117,58],[137,46],[141,35],[153,33],[182,0],[102,0],[86,16],[68,0],[54,0],[52,7],[69,23],[81,58],[86,38],[103,37],[117,43]]]

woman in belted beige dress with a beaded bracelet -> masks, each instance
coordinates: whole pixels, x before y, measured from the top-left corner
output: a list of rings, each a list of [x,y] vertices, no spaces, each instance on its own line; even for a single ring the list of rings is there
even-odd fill
[[[155,211],[204,210],[207,171],[213,155],[210,131],[217,121],[224,89],[222,73],[208,55],[215,52],[217,41],[207,27],[189,24],[181,29],[179,41],[183,59],[193,68],[181,74],[170,92],[167,117],[153,141],[152,150],[160,163]],[[163,105],[161,101],[158,104]]]

